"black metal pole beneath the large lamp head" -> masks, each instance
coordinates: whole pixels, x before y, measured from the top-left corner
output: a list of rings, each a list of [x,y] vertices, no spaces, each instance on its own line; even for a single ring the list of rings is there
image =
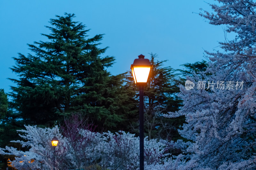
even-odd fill
[[[140,170],[144,170],[144,86],[140,86]]]

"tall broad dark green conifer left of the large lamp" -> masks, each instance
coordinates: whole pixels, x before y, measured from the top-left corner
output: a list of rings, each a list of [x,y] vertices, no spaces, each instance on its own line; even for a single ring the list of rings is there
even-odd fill
[[[47,42],[28,45],[34,53],[14,58],[11,69],[19,80],[11,79],[12,106],[26,124],[53,125],[72,112],[81,112],[99,128],[115,127],[129,114],[124,105],[123,75],[111,76],[106,68],[114,57],[101,57],[102,34],[87,38],[85,26],[74,22],[74,14],[51,19]]]

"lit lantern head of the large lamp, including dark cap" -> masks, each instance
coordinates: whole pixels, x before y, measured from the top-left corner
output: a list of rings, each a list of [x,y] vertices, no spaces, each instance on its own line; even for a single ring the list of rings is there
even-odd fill
[[[139,58],[135,59],[131,65],[132,76],[136,85],[146,86],[152,64],[148,59],[144,59],[144,55],[140,54],[138,57]]]

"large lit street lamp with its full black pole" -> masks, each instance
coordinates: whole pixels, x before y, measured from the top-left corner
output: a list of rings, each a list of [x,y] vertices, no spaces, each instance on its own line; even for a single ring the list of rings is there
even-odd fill
[[[131,65],[135,84],[140,89],[140,170],[144,170],[144,87],[147,85],[148,75],[152,64],[144,55],[140,54]]]

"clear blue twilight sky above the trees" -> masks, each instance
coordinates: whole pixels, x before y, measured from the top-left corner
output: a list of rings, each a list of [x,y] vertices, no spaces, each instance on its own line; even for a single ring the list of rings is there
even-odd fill
[[[223,26],[210,25],[196,14],[199,8],[211,11],[203,0],[0,0],[0,89],[10,92],[9,86],[15,86],[7,80],[17,78],[9,68],[15,65],[12,57],[30,53],[27,44],[47,41],[41,35],[50,33],[44,25],[65,12],[76,14],[74,21],[91,29],[89,37],[105,34],[100,47],[109,46],[105,55],[116,58],[108,68],[112,74],[126,72],[138,55],[149,58],[151,52],[175,69],[201,61],[204,49],[219,46],[224,32]]]

